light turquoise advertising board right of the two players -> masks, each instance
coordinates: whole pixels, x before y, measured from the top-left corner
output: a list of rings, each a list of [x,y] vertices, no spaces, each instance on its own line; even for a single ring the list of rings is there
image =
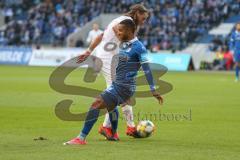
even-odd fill
[[[187,71],[191,55],[190,54],[170,54],[170,53],[150,53],[148,60],[152,63],[161,64],[169,71]]]

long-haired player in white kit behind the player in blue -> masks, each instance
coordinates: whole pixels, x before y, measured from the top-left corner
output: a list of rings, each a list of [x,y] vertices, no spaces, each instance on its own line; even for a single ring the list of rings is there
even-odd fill
[[[146,19],[149,17],[148,10],[142,4],[135,4],[130,7],[130,11],[125,15],[122,15],[114,19],[107,26],[103,34],[95,38],[89,45],[88,49],[79,56],[78,62],[84,61],[96,48],[96,56],[102,60],[103,66],[101,69],[102,74],[107,83],[107,87],[112,84],[112,57],[118,53],[120,41],[117,38],[117,25],[125,20],[131,19],[139,26],[143,25]],[[138,29],[136,30],[137,34]],[[128,136],[136,136],[136,127],[133,120],[132,106],[125,105],[122,107],[124,119],[127,121],[126,134]],[[105,137],[112,136],[112,129],[109,114],[105,115],[103,125],[99,128],[99,133]]]

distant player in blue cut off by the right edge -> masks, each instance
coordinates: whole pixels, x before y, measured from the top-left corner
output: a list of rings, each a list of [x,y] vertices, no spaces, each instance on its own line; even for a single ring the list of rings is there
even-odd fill
[[[240,22],[236,25],[236,30],[233,31],[230,38],[230,50],[234,52],[234,62],[235,62],[235,76],[236,82],[239,81],[239,69],[240,69]]]

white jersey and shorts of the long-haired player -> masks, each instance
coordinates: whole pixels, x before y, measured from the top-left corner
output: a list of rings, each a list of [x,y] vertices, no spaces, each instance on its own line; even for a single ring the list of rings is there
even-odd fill
[[[115,32],[113,31],[113,27],[119,24],[121,21],[125,19],[131,19],[129,16],[120,16],[114,20],[107,26],[104,31],[103,39],[99,46],[96,48],[95,53],[98,58],[102,60],[102,73],[106,80],[107,85],[111,85],[112,78],[112,57],[118,54],[120,41],[116,37]]]

